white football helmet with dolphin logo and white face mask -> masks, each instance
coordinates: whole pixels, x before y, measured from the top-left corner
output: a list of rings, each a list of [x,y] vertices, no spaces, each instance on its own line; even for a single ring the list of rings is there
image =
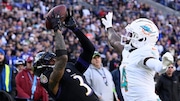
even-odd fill
[[[159,37],[157,26],[146,18],[134,20],[125,29],[126,35],[121,35],[121,44],[126,47],[140,48],[147,44],[155,45]]]

